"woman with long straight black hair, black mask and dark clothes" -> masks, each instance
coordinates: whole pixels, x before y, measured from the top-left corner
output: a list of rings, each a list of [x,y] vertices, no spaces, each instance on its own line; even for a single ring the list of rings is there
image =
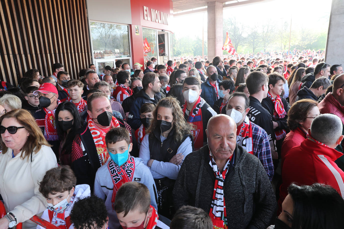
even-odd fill
[[[69,101],[65,101],[57,106],[55,111],[55,123],[57,134],[61,143],[58,148],[58,156],[61,164],[71,166],[69,159],[72,151],[72,142],[76,135],[76,130],[82,126],[82,121],[76,106]]]

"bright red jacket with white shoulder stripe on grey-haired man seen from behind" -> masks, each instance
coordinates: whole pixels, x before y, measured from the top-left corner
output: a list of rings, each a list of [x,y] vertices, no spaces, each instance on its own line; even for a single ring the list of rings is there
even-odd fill
[[[344,172],[334,163],[342,155],[343,153],[310,138],[302,141],[300,146],[289,150],[282,168],[279,209],[281,210],[282,202],[288,195],[287,188],[292,182],[299,185],[314,183],[331,185],[344,197]]]

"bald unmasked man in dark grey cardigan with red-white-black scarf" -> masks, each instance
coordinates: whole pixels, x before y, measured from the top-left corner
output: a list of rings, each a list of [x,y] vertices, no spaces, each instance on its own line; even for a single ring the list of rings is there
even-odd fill
[[[175,208],[202,208],[219,227],[267,228],[275,193],[259,159],[236,144],[233,118],[213,116],[206,135],[208,145],[186,156],[180,168],[173,189]]]

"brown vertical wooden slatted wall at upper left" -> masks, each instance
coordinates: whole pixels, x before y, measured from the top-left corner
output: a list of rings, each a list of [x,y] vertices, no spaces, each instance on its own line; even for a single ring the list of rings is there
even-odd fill
[[[76,79],[92,59],[88,29],[86,0],[1,0],[0,79],[50,76],[55,62]]]

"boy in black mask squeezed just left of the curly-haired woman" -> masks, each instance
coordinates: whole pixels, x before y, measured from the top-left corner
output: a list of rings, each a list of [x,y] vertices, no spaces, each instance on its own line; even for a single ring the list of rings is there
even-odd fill
[[[139,149],[140,149],[143,137],[146,135],[146,129],[148,129],[148,127],[150,126],[150,122],[153,118],[154,109],[155,109],[154,103],[144,103],[140,108],[140,117],[141,117],[142,125],[135,131],[135,138],[137,139]]]

